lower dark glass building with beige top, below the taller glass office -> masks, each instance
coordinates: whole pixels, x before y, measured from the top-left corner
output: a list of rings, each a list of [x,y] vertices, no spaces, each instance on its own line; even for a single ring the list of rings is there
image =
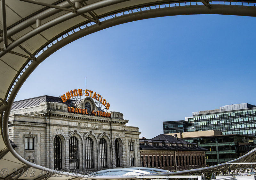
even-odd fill
[[[205,152],[207,166],[234,160],[256,148],[256,137],[241,134],[222,135],[220,131],[210,130],[180,133],[178,136],[208,150]]]

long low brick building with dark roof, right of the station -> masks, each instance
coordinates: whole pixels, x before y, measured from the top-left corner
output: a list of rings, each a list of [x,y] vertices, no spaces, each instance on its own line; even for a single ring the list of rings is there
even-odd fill
[[[179,171],[206,167],[205,151],[196,143],[176,136],[160,134],[152,139],[140,139],[141,167]]]

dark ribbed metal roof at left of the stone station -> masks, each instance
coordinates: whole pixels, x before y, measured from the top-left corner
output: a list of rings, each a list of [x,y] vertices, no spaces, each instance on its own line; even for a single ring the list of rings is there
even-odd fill
[[[24,100],[20,100],[20,101],[15,101],[12,104],[11,110],[36,106],[36,105],[39,105],[40,103],[44,103],[44,102],[63,103],[60,97],[44,95],[44,96],[33,97],[33,98],[24,99]],[[63,104],[68,104],[70,106],[70,104],[72,104],[72,102],[70,100],[68,100],[66,103],[63,103]]]

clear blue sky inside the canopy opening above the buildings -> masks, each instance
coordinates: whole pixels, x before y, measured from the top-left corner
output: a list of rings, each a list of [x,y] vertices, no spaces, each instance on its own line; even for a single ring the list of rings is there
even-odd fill
[[[163,121],[256,104],[255,17],[185,15],[126,23],[63,47],[31,74],[17,100],[78,88],[102,95],[140,137]]]

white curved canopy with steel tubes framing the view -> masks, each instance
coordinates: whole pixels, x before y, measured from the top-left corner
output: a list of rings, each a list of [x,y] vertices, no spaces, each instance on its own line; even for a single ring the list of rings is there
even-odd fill
[[[20,157],[9,141],[8,118],[12,102],[31,72],[49,55],[93,32],[140,19],[186,14],[255,17],[255,2],[255,0],[211,2],[207,0],[1,0],[0,178],[4,180],[84,178],[78,175],[71,176],[68,173],[62,173],[65,176],[61,177],[53,176],[54,170],[32,164]],[[255,162],[254,157],[255,150],[234,162]],[[216,170],[230,172],[241,166],[251,168],[251,164],[224,163],[203,169],[165,172],[165,174],[195,174]],[[255,164],[252,166],[254,168]],[[34,172],[33,169],[36,171]],[[24,172],[29,172],[29,175],[33,173],[32,176],[26,176]],[[48,175],[47,173],[52,174],[45,176]],[[40,176],[42,174],[44,176]],[[134,175],[132,177],[136,178]],[[93,178],[95,179],[96,176]],[[128,176],[122,178],[127,179]]]

